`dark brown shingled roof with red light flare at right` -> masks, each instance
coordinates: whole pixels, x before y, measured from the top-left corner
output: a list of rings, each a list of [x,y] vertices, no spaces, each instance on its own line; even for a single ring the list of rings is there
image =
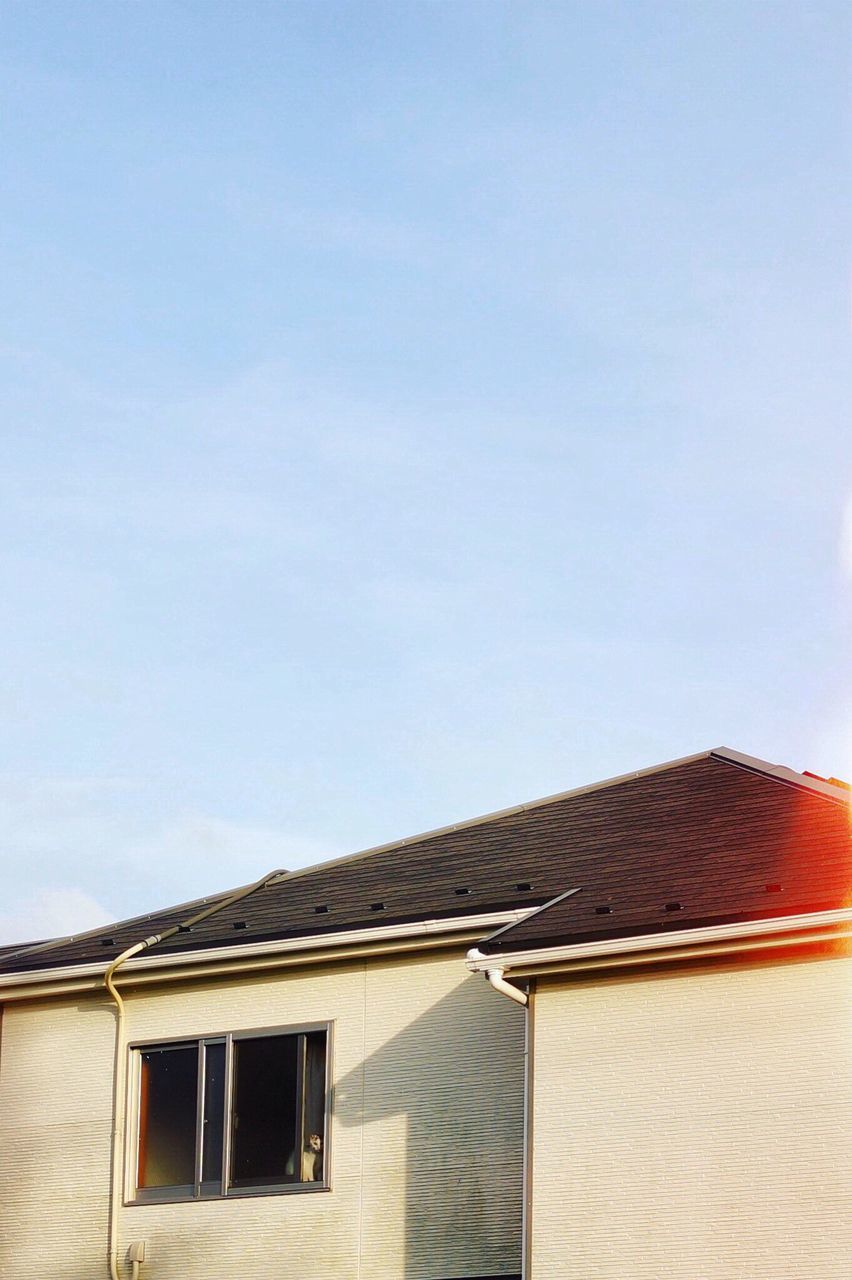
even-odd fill
[[[281,876],[157,954],[541,906],[486,954],[848,902],[839,786],[724,749]],[[212,901],[212,899],[211,899]],[[106,961],[201,904],[138,916],[0,970]]]

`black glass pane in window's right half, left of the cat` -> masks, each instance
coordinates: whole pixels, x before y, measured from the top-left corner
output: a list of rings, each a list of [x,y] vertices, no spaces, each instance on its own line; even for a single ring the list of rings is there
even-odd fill
[[[230,1180],[234,1187],[293,1181],[299,1036],[262,1036],[234,1043]],[[290,1165],[292,1169],[292,1165]]]

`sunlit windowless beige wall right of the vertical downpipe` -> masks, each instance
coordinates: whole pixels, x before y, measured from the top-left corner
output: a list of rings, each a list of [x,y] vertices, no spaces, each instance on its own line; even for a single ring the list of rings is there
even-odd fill
[[[852,959],[540,979],[531,1280],[848,1280]]]

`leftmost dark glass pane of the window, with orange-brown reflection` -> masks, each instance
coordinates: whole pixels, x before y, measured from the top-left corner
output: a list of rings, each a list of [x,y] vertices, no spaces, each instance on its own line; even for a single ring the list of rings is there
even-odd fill
[[[197,1098],[196,1044],[142,1052],[139,1187],[193,1185]]]

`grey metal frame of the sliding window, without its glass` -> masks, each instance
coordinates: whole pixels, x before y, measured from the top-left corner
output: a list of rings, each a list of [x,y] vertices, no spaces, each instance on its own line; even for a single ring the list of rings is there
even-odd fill
[[[275,1183],[264,1187],[230,1187],[230,1165],[233,1158],[233,1115],[234,1115],[234,1044],[247,1039],[265,1039],[271,1037],[297,1037],[310,1036],[312,1032],[325,1033],[325,1098],[322,1107],[322,1179],[315,1183]],[[225,1105],[223,1115],[223,1161],[221,1161],[221,1190],[212,1194],[201,1194],[201,1134],[203,1120],[203,1075],[205,1053],[202,1046],[225,1046]],[[304,1042],[302,1042],[304,1043]],[[127,1098],[127,1133],[125,1133],[125,1183],[124,1204],[187,1204],[210,1203],[214,1201],[246,1199],[253,1196],[292,1196],[312,1194],[315,1192],[331,1190],[331,1062],[334,1047],[334,1023],[297,1023],[284,1027],[251,1027],[229,1032],[209,1032],[198,1036],[162,1036],[128,1042],[128,1098]],[[139,1147],[141,1147],[141,1088],[142,1088],[142,1053],[146,1050],[161,1048],[196,1048],[198,1050],[198,1089],[196,1097],[196,1180],[184,1187],[139,1187]],[[302,1050],[303,1051],[303,1050]],[[299,1103],[301,1088],[298,1096]]]

